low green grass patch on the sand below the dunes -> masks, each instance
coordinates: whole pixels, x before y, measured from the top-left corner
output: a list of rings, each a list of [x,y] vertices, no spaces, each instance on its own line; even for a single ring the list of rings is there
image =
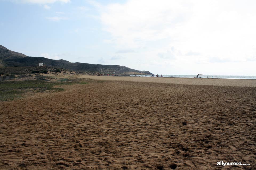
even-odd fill
[[[0,83],[0,101],[17,100],[28,94],[38,92],[60,92],[65,91],[63,85],[88,84],[79,78],[49,78],[38,77],[35,80],[5,81]]]

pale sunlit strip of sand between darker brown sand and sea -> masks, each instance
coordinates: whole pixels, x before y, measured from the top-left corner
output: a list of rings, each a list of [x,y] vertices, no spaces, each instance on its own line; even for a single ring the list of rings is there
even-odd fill
[[[115,77],[115,76],[90,76],[78,75],[80,78],[94,80],[115,80],[132,82],[154,82],[171,84],[209,85],[209,86],[238,86],[256,87],[256,80],[251,79],[206,79],[206,78],[167,78],[167,77]]]

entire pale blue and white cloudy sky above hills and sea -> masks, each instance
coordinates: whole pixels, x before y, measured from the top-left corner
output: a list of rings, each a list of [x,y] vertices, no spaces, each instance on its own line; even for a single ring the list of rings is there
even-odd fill
[[[153,74],[256,76],[254,0],[0,0],[0,45]]]

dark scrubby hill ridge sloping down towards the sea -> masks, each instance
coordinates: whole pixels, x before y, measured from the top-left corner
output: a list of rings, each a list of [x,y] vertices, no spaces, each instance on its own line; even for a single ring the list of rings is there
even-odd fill
[[[44,57],[28,57],[24,54],[8,50],[0,45],[0,67],[37,67],[39,63],[45,63],[48,67],[64,68],[72,71],[93,71],[109,74],[152,74],[149,71],[139,71],[119,65],[101,65],[75,62],[66,60],[52,60]]]

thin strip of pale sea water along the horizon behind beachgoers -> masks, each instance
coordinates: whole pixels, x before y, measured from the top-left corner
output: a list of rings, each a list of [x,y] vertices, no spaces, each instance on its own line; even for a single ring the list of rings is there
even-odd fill
[[[135,75],[129,75],[130,77],[135,77]],[[127,77],[129,77],[127,76]],[[151,75],[136,75],[137,77],[151,77]],[[163,77],[179,77],[179,78],[194,78],[197,75],[175,75],[175,74],[162,74]],[[256,76],[240,76],[240,75],[198,75],[198,78],[208,78],[213,76],[213,78],[218,79],[256,79]],[[122,76],[123,77],[123,76]],[[155,75],[156,77],[156,75]],[[159,75],[161,77],[161,74]]]

